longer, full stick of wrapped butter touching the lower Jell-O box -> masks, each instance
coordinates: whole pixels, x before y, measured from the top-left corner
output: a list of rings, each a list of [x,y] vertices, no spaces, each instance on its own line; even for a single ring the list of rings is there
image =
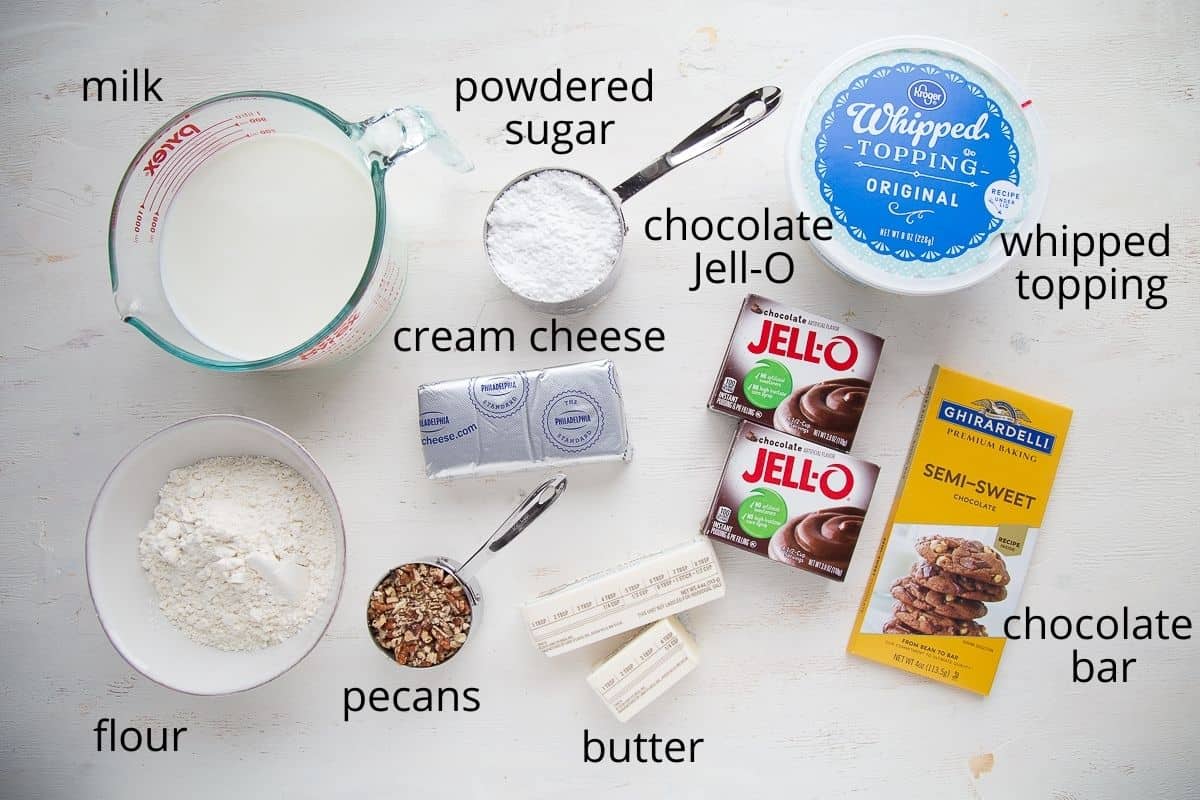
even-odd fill
[[[724,596],[716,553],[696,537],[544,591],[521,610],[538,649],[557,656]]]

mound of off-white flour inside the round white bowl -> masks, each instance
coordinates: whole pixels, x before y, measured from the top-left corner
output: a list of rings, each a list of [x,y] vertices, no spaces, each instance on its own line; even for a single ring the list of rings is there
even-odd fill
[[[329,506],[294,469],[260,456],[172,470],[138,553],[167,619],[221,650],[294,636],[329,595],[336,558]],[[299,593],[259,573],[281,561],[287,575],[307,572]]]

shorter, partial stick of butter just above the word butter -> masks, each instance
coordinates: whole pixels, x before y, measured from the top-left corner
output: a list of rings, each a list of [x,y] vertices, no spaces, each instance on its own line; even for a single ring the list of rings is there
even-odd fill
[[[667,616],[598,664],[588,682],[620,722],[629,722],[698,663],[696,640],[678,619]]]

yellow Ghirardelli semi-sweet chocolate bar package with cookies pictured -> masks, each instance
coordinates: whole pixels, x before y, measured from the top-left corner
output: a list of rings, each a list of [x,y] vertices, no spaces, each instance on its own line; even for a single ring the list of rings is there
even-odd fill
[[[991,691],[1069,425],[1068,408],[934,367],[850,652]]]

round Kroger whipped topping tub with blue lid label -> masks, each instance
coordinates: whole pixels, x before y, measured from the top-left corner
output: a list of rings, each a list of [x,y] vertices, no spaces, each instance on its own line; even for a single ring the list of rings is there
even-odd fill
[[[942,294],[1003,267],[1002,233],[1045,203],[1032,102],[986,56],[905,36],[856,48],[814,83],[792,125],[787,170],[799,209],[832,217],[814,240],[859,283]]]

